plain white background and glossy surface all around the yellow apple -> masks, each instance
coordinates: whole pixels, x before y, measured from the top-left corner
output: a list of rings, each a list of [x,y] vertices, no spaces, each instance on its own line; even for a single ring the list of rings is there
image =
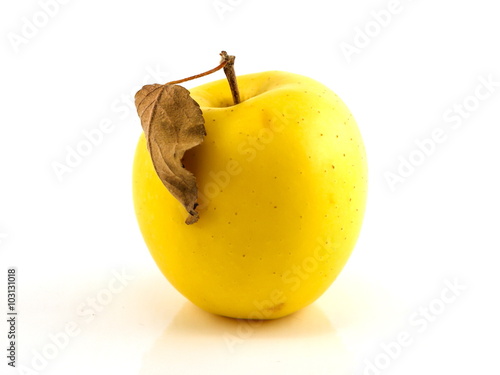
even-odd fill
[[[401,0],[378,28],[389,1],[74,0],[49,16],[42,2],[0,6],[0,310],[16,267],[17,364],[32,370],[6,365],[3,315],[2,374],[498,371],[500,86],[476,91],[500,82],[494,1]],[[23,36],[29,21],[38,31]],[[14,34],[26,37],[17,47]],[[359,48],[346,56],[342,43]],[[212,68],[223,49],[238,74],[278,69],[331,87],[369,157],[366,219],[343,273],[311,307],[259,327],[178,294],[132,207],[141,127],[128,101],[145,82]],[[108,120],[112,131],[60,181],[53,163]],[[446,140],[418,159],[416,142],[437,129]],[[421,165],[393,191],[387,173],[411,155]],[[110,283],[123,288],[90,308]]]

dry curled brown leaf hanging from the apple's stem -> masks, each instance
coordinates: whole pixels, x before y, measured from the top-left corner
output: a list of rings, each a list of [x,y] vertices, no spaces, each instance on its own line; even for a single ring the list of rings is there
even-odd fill
[[[158,177],[189,213],[186,224],[196,223],[196,177],[184,168],[182,157],[206,135],[200,106],[188,90],[171,84],[144,86],[135,106]]]

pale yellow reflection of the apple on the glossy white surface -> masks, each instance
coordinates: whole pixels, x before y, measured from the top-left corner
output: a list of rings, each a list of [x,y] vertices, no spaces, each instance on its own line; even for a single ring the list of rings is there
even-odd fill
[[[349,355],[317,305],[288,317],[245,321],[206,313],[186,302],[146,353],[140,374],[310,373],[345,368]],[[298,373],[298,372],[297,372]]]

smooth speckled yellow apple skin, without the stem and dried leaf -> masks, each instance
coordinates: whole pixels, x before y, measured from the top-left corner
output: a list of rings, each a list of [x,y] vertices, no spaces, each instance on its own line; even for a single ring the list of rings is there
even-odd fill
[[[315,301],[358,238],[367,195],[363,141],[330,89],[281,71],[191,89],[207,136],[185,167],[198,183],[200,219],[157,177],[144,136],[133,166],[139,227],[170,283],[200,308],[274,319]]]

